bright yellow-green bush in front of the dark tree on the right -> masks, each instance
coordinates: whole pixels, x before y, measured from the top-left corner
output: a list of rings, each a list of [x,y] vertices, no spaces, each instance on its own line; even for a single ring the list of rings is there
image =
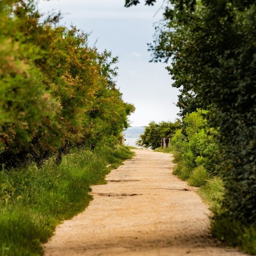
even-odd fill
[[[183,129],[177,129],[172,135],[171,147],[157,149],[173,154],[173,162],[177,163],[173,174],[187,180],[191,186],[201,187],[219,172],[218,129],[209,126],[208,114],[209,111],[201,109],[187,113]]]

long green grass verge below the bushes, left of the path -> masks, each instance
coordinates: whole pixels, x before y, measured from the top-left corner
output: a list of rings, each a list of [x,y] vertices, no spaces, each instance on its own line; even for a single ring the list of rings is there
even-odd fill
[[[30,163],[0,172],[0,255],[42,255],[41,244],[61,221],[84,210],[92,200],[90,186],[104,184],[110,169],[131,158],[123,146],[79,148],[40,167]],[[111,164],[110,168],[106,166]]]

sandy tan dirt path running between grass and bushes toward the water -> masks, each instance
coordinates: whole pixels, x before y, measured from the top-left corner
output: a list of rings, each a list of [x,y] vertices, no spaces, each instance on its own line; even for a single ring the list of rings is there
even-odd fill
[[[209,235],[209,211],[195,188],[172,175],[170,154],[136,150],[93,186],[94,200],[59,225],[46,256],[238,256]]]

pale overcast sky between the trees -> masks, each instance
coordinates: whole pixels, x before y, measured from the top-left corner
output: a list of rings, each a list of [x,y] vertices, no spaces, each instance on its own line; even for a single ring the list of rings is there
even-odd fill
[[[140,4],[131,8],[125,8],[124,2],[39,0],[39,8],[43,13],[61,11],[62,24],[73,24],[84,32],[92,32],[91,45],[97,41],[99,51],[107,49],[119,56],[117,87],[125,102],[136,107],[130,117],[132,126],[147,125],[151,120],[174,121],[178,113],[177,89],[172,88],[166,64],[149,63],[147,51],[147,43],[152,42],[154,34],[153,23],[162,16],[162,11],[155,13],[163,1],[158,0],[154,7]]]

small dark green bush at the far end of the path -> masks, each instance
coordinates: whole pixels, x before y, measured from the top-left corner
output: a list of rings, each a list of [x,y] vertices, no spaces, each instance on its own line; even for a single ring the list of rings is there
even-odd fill
[[[180,128],[180,120],[175,122],[160,122],[157,124],[152,121],[145,127],[145,131],[140,135],[137,145],[152,149],[161,146],[162,138],[172,138],[175,131]]]

